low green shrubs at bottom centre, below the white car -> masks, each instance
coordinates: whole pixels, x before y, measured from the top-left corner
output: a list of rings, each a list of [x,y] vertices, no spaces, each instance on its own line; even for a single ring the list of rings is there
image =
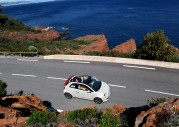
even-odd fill
[[[113,115],[111,111],[86,108],[75,110],[66,115],[67,122],[76,123],[80,127],[122,127],[126,121],[121,116]]]

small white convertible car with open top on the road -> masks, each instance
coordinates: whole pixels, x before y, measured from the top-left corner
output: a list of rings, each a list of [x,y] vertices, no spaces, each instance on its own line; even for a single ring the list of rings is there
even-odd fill
[[[107,101],[110,97],[110,87],[107,83],[88,75],[69,77],[64,86],[66,98],[72,97],[93,100],[97,104]]]

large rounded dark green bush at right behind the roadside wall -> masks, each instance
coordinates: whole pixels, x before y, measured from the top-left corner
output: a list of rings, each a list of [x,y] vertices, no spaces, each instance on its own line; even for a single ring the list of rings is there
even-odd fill
[[[134,56],[139,59],[176,61],[176,55],[176,49],[169,45],[169,39],[164,35],[164,31],[159,30],[144,37]]]

